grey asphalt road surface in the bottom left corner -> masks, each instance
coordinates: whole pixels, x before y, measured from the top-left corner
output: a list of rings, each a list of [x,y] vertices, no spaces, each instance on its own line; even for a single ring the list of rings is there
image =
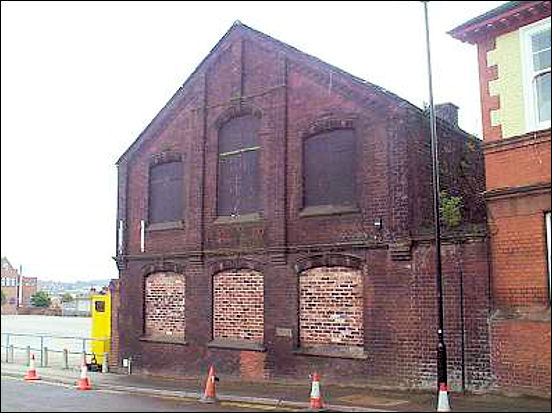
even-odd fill
[[[74,386],[27,383],[2,376],[2,412],[250,412],[259,405],[221,402],[204,404],[175,397],[135,395],[112,390],[79,391]],[[261,406],[263,410],[274,410]]]

